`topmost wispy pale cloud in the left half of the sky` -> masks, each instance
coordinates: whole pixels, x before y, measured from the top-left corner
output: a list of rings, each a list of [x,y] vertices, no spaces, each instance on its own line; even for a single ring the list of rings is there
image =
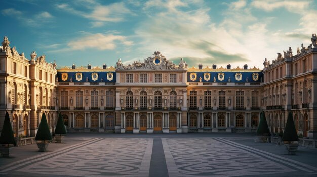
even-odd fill
[[[93,1],[94,2],[94,1]],[[84,4],[83,4],[84,6]],[[68,4],[58,4],[58,9],[65,10],[66,12],[70,12],[72,14],[95,20],[97,22],[93,23],[94,27],[102,26],[102,22],[120,22],[124,21],[124,16],[126,14],[133,14],[123,2],[120,3],[112,3],[108,6],[100,5],[96,2],[91,3],[90,6],[85,5],[84,8],[90,10],[87,13],[87,10],[80,11],[70,7]],[[83,7],[82,7],[83,8]],[[91,10],[92,9],[92,10]]]

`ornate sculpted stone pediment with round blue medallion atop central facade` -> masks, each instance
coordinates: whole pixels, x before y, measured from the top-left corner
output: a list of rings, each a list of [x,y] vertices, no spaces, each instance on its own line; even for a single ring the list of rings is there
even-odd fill
[[[119,59],[116,62],[116,70],[187,70],[187,64],[181,58],[178,66],[166,59],[159,51],[153,56],[145,58],[144,62],[134,61],[133,64],[124,65]]]

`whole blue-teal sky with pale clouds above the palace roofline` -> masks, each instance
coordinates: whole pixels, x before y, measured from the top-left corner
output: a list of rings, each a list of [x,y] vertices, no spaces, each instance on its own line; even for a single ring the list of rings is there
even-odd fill
[[[262,69],[265,58],[311,44],[317,1],[2,0],[0,20],[1,39],[58,67],[142,62],[160,51],[189,67]]]

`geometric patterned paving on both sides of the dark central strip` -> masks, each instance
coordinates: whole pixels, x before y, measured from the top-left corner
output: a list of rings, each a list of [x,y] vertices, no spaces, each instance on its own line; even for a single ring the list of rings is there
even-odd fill
[[[315,167],[225,138],[160,139],[169,176],[317,174]],[[0,167],[0,176],[149,176],[155,149],[153,138],[90,138]]]

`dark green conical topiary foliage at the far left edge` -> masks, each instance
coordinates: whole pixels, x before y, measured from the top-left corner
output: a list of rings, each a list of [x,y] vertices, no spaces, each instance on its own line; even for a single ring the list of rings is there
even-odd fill
[[[6,113],[4,125],[0,136],[0,144],[15,144],[9,113]]]

